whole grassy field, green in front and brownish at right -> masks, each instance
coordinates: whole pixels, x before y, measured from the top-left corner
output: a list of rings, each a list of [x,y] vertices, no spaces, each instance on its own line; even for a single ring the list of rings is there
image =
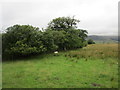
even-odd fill
[[[117,88],[117,44],[3,62],[3,88]]]

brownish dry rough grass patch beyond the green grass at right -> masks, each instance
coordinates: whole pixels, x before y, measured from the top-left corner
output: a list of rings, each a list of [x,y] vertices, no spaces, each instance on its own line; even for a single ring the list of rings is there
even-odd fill
[[[71,51],[66,56],[76,58],[118,58],[118,44],[93,44]]]

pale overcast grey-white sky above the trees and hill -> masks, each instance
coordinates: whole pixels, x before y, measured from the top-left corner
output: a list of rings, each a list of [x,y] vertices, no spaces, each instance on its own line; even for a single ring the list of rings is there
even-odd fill
[[[89,35],[118,34],[119,0],[2,0],[0,27],[29,24],[46,28],[54,18],[75,16]],[[2,22],[1,22],[2,21]]]

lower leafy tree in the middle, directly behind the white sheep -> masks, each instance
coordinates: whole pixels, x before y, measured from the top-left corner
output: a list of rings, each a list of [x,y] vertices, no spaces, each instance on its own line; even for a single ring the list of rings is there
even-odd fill
[[[46,31],[43,33],[42,42],[48,52],[55,50],[63,50],[65,41],[64,31]]]

